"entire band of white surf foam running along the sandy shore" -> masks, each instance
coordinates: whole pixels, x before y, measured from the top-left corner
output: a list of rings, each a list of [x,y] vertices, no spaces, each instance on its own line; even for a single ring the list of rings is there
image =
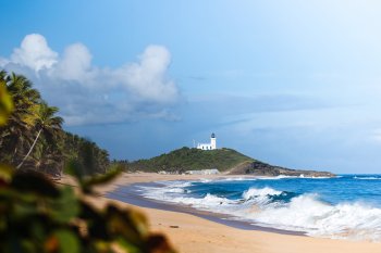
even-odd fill
[[[296,195],[283,202],[273,201],[273,197],[287,193],[269,187],[250,188],[238,200],[210,193],[195,198],[184,194],[186,186],[189,185],[182,181],[162,188],[146,187],[144,195],[229,214],[261,226],[305,231],[312,237],[381,241],[381,210],[364,203],[331,205],[320,201],[317,194]]]

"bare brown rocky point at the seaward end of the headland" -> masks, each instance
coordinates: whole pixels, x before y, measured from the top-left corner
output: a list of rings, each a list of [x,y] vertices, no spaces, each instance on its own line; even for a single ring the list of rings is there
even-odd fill
[[[254,176],[296,176],[296,177],[334,177],[335,175],[329,172],[316,172],[304,169],[291,169],[280,166],[273,166],[259,161],[245,162],[236,167],[232,168],[228,174],[230,175],[243,175],[249,174]]]

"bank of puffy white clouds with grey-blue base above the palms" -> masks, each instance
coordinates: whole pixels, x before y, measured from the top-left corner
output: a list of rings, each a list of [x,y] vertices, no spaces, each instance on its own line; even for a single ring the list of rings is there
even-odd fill
[[[115,68],[95,66],[91,59],[83,43],[59,54],[44,36],[32,34],[9,58],[0,58],[0,67],[30,78],[69,125],[176,118],[171,109],[180,92],[168,73],[165,47],[148,46],[135,62]]]

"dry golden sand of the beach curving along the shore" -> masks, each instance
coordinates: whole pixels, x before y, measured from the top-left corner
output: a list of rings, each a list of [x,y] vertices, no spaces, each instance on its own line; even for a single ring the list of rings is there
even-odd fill
[[[305,236],[291,236],[274,232],[243,230],[218,224],[192,214],[134,206],[121,201],[109,200],[105,195],[116,189],[135,182],[158,180],[179,180],[216,178],[221,176],[200,175],[159,175],[123,174],[110,185],[97,188],[99,197],[91,200],[101,206],[107,202],[131,206],[144,212],[153,231],[165,233],[175,249],[185,253],[206,252],[258,252],[258,253],[379,253],[381,243],[320,239]],[[67,178],[62,182],[70,184]]]

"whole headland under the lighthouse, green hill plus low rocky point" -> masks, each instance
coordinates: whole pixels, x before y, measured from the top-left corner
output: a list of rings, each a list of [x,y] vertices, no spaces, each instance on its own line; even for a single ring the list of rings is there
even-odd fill
[[[121,162],[120,162],[121,163]],[[217,168],[221,173],[231,175],[256,175],[256,176],[307,176],[307,177],[333,177],[328,172],[290,169],[270,165],[232,149],[198,150],[182,148],[167,154],[149,160],[124,162],[130,172],[160,172],[182,174],[186,170],[200,170]]]

